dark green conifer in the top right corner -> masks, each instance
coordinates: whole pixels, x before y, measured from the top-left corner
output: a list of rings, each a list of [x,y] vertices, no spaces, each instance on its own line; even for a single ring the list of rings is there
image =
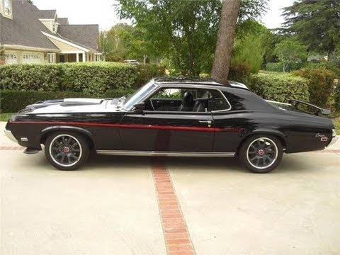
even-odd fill
[[[308,50],[330,56],[340,42],[339,0],[297,0],[284,8],[285,29]]]

